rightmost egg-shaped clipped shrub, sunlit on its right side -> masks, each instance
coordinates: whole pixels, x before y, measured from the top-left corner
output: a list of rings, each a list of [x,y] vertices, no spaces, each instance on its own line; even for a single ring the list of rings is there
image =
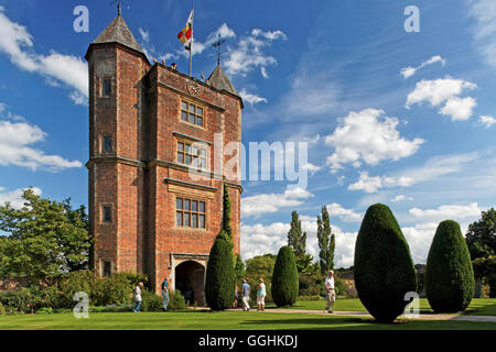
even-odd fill
[[[435,312],[463,311],[475,289],[474,271],[460,224],[441,222],[432,240],[425,270],[425,294]]]

